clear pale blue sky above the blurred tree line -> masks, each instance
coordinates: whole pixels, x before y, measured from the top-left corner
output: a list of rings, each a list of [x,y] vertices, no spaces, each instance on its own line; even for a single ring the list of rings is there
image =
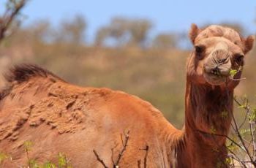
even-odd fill
[[[242,23],[248,34],[256,32],[255,0],[30,0],[23,9],[25,21],[49,19],[52,23],[83,15],[88,23],[87,37],[114,16],[147,18],[159,31],[188,31],[191,23]]]

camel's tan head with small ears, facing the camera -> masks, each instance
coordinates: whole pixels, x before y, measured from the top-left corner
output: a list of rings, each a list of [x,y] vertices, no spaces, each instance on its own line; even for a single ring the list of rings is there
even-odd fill
[[[213,25],[201,30],[192,24],[189,38],[194,50],[187,64],[188,79],[197,84],[228,84],[235,88],[239,83],[236,79],[241,77],[244,56],[252,49],[254,37],[241,37],[224,26]],[[236,75],[230,78],[230,72]]]

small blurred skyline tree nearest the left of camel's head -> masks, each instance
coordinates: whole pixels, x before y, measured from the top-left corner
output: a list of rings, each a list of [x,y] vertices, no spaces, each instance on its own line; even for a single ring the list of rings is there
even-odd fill
[[[158,34],[153,39],[152,47],[159,49],[171,49],[177,47],[177,36],[176,34]]]

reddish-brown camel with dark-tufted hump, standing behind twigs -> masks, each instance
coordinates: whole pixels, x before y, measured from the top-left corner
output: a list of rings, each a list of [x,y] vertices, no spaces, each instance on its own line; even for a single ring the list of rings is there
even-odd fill
[[[2,165],[58,163],[61,152],[72,167],[228,167],[233,91],[254,38],[195,24],[189,38],[195,49],[187,61],[182,130],[137,96],[72,85],[39,66],[12,68],[0,94],[0,149],[12,160]]]

